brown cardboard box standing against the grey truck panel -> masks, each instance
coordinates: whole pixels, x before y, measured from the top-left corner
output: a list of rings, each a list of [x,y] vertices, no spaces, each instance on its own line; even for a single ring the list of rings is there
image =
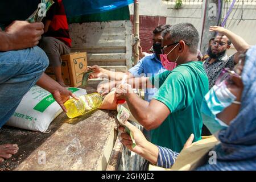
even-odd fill
[[[73,52],[61,56],[61,75],[67,86],[78,87],[82,84],[82,76],[87,69],[86,52]],[[48,67],[45,72],[56,80],[53,68]]]

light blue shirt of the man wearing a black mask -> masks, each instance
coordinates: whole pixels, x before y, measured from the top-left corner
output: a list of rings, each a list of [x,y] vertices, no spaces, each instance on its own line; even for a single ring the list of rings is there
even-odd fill
[[[134,77],[151,77],[167,71],[155,53],[143,57],[129,72]],[[150,102],[158,89],[146,89],[144,100]]]

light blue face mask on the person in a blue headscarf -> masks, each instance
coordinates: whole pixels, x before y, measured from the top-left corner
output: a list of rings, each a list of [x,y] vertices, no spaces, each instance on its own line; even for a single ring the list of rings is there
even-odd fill
[[[230,106],[235,100],[236,96],[229,91],[225,82],[222,82],[219,86],[214,85],[205,95],[201,106],[201,113],[203,123],[210,133],[214,134],[228,127],[216,115]]]

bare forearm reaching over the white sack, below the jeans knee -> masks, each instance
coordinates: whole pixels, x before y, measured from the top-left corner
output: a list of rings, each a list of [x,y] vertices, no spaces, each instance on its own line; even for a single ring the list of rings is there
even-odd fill
[[[43,75],[39,78],[38,82],[36,82],[36,85],[42,87],[43,89],[46,89],[50,93],[53,93],[55,92],[55,90],[61,88],[61,85],[53,80],[51,77],[46,75],[46,73],[43,73]]]

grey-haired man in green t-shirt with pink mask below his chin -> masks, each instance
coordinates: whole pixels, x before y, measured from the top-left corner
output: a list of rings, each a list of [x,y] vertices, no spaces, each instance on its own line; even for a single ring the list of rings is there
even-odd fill
[[[190,23],[180,23],[162,34],[162,64],[171,69],[175,62],[176,68],[158,76],[127,80],[133,87],[139,82],[140,88],[159,88],[153,100],[143,101],[128,85],[119,86],[116,92],[119,100],[127,101],[137,121],[152,130],[152,143],[180,152],[192,133],[194,142],[201,139],[200,107],[209,82],[203,63],[197,61],[199,34],[196,28]]]

